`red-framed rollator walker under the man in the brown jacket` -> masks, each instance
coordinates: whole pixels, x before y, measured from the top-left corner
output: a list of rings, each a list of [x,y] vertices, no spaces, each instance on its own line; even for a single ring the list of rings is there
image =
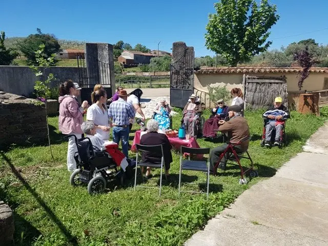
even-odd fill
[[[243,152],[239,152],[237,153],[235,146],[240,145],[242,142],[244,141],[248,141],[251,140],[251,136],[250,137],[245,137],[244,139],[240,140],[239,142],[237,142],[236,144],[233,144],[232,142],[228,142],[228,147],[226,150],[224,150],[223,153],[221,153],[218,161],[216,162],[216,165],[214,166],[214,170],[213,170],[213,174],[217,175],[217,168],[220,164],[221,159],[226,156],[227,157],[227,163],[226,164],[232,164],[232,165],[236,165],[234,162],[237,162],[237,166],[240,169],[240,179],[239,179],[239,185],[245,185],[247,184],[247,179],[246,179],[246,175],[249,174],[249,176],[251,178],[257,177],[258,176],[258,172],[256,170],[254,170],[254,163],[253,160],[250,156],[250,153],[247,151],[243,151]],[[245,156],[244,154],[246,154],[247,156]],[[250,160],[250,167],[247,168],[246,170],[243,169],[243,167],[240,164],[240,160],[241,159],[248,159]],[[230,161],[230,162],[229,162]]]

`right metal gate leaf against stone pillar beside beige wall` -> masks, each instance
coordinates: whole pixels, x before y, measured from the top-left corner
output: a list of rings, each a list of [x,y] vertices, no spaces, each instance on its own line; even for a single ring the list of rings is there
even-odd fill
[[[171,64],[170,104],[174,107],[185,107],[194,89],[194,51],[185,53]]]

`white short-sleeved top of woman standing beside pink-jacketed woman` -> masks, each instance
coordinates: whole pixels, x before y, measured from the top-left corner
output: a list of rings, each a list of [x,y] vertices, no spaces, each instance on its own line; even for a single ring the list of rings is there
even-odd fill
[[[108,127],[108,112],[105,109],[103,110],[101,110],[96,104],[91,105],[87,111],[87,120],[92,120],[95,125]],[[106,141],[109,139],[109,132],[97,129],[95,136]]]

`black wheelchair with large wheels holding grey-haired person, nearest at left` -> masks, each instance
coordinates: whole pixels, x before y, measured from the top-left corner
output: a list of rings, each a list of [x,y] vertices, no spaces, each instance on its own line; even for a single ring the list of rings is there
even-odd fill
[[[76,170],[70,176],[72,186],[85,183],[88,185],[89,194],[94,195],[103,192],[110,180],[117,179],[123,184],[124,171],[118,170],[115,161],[106,151],[93,146],[89,137],[77,139],[75,135],[68,135],[65,138],[72,136],[77,146],[77,152],[74,154]]]

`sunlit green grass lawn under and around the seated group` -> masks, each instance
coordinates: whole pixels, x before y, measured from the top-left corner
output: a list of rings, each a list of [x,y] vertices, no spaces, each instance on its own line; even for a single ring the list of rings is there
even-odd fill
[[[209,112],[204,116],[208,118]],[[0,153],[0,198],[14,211],[15,245],[182,245],[244,190],[275,175],[285,161],[302,151],[306,139],[325,120],[292,112],[292,119],[286,124],[289,145],[284,149],[265,149],[259,146],[261,112],[246,112],[245,117],[253,136],[249,152],[260,177],[248,178],[248,184],[241,186],[239,169],[228,166],[227,171],[210,177],[209,199],[189,193],[178,197],[177,152],[173,153],[171,183],[164,182],[161,197],[155,189],[134,191],[133,180],[124,187],[112,183],[106,193],[97,196],[90,196],[86,187],[71,187],[66,168],[67,142],[57,131],[58,118],[50,118],[55,163],[45,146],[12,146]],[[173,117],[174,128],[178,128],[180,118],[181,114]],[[204,139],[197,141],[201,147],[220,145]],[[133,153],[130,157],[134,157]],[[155,187],[159,172],[154,174],[148,185]],[[206,175],[184,172],[182,181],[182,189],[199,191],[206,186]]]

